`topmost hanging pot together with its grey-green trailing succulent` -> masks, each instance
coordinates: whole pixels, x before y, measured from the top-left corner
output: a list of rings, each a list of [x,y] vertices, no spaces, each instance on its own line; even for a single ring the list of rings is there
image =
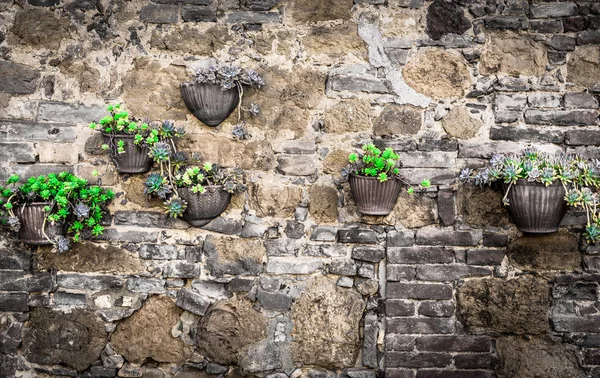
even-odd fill
[[[244,110],[256,117],[260,108],[255,103],[251,103],[248,109],[242,108],[244,85],[260,89],[265,81],[253,69],[218,64],[197,70],[194,81],[181,84],[181,95],[194,116],[208,126],[221,124],[237,107],[238,123],[233,135],[238,139],[248,139],[250,134],[241,120],[241,112]]]

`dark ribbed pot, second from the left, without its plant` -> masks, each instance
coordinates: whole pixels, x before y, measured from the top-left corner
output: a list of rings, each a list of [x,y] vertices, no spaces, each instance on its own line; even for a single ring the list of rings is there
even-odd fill
[[[152,158],[148,155],[150,149],[145,144],[136,146],[134,143],[134,135],[118,135],[112,136],[107,133],[102,133],[104,143],[108,144],[110,157],[117,167],[119,173],[145,173],[152,167]],[[125,142],[125,152],[119,154],[117,152],[117,142],[122,140]]]

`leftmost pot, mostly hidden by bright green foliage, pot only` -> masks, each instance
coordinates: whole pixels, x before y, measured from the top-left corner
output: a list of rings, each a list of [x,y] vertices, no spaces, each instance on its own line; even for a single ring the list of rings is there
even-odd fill
[[[42,232],[44,218],[46,217],[44,207],[46,206],[52,206],[52,204],[49,202],[36,202],[25,206],[15,206],[13,211],[21,222],[19,239],[22,242],[31,245],[52,244]],[[65,234],[65,226],[63,223],[52,224],[46,221],[44,231],[46,231],[46,235],[50,240],[54,240],[55,236]]]

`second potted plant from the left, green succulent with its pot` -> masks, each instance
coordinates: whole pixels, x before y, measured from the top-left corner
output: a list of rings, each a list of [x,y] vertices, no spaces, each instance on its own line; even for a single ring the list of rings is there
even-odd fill
[[[120,104],[108,105],[110,114],[98,122],[90,123],[104,137],[102,149],[109,150],[117,170],[121,173],[143,173],[150,170],[150,151],[161,143],[173,144],[185,134],[171,121],[162,123],[130,119]]]

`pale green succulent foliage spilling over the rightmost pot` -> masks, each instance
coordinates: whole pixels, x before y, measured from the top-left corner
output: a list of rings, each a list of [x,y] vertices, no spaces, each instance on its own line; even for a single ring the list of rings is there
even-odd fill
[[[528,148],[518,154],[495,154],[489,164],[481,169],[465,168],[459,179],[475,185],[507,185],[502,199],[509,206],[508,193],[519,180],[545,186],[560,183],[565,189],[567,205],[581,207],[587,214],[585,238],[588,242],[600,239],[600,214],[598,194],[600,187],[600,161],[585,159],[580,155],[550,154]],[[592,191],[594,190],[594,191]]]

